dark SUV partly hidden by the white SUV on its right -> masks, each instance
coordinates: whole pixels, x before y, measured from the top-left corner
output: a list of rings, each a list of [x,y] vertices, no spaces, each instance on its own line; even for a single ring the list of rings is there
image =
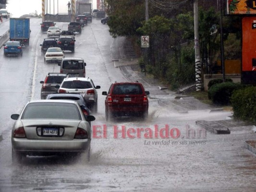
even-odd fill
[[[46,96],[53,93],[58,93],[59,88],[56,88],[56,85],[60,85],[67,77],[67,74],[59,73],[59,72],[49,72],[44,81],[40,81],[42,84],[41,87],[41,99],[45,99]]]

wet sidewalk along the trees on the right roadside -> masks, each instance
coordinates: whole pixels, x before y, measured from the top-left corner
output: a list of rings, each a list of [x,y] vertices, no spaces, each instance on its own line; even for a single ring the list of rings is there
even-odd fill
[[[115,47],[116,46],[116,47]],[[115,67],[119,67],[124,76],[132,82],[142,83],[150,92],[149,98],[157,99],[158,104],[179,113],[193,113],[203,110],[205,112],[218,112],[231,109],[215,108],[200,102],[193,96],[185,96],[170,91],[154,78],[149,78],[145,72],[141,72],[138,58],[133,51],[131,43],[125,37],[118,37],[111,45],[111,57]],[[119,53],[118,53],[119,52]],[[195,124],[215,134],[230,134],[230,128],[248,126],[245,122],[229,120],[206,121],[197,120]],[[252,125],[249,125],[252,126]]]

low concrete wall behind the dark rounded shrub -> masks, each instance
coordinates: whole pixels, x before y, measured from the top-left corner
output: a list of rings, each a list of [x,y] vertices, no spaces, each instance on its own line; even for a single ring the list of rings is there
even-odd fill
[[[232,79],[234,83],[241,83],[241,74],[240,73],[226,74],[225,78]],[[208,91],[208,83],[212,79],[223,79],[223,74],[205,74],[204,75],[205,91]]]

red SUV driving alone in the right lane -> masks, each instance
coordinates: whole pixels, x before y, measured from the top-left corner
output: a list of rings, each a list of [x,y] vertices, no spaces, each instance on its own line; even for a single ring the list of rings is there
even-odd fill
[[[115,116],[148,116],[148,91],[141,83],[122,82],[113,83],[109,92],[102,92],[105,99],[105,117],[110,120]]]

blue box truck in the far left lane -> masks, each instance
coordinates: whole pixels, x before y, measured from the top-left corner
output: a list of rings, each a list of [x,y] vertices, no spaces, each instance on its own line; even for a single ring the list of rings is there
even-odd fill
[[[29,18],[10,18],[10,41],[19,41],[29,45],[30,20]]]

